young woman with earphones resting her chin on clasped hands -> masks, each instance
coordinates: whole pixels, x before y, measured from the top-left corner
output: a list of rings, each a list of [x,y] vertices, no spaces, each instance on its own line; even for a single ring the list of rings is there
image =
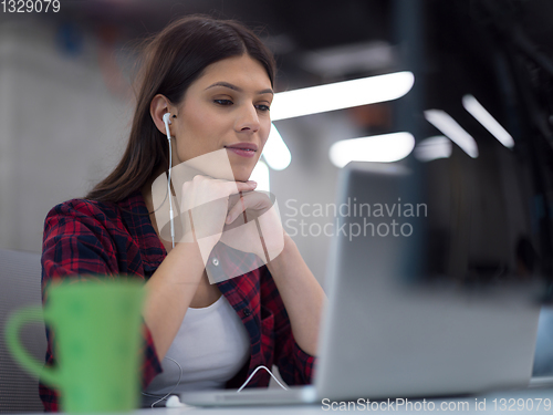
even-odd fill
[[[273,58],[243,25],[205,17],[175,21],[145,51],[122,160],[84,199],[61,204],[46,217],[43,297],[49,282],[65,278],[144,280],[143,386],[150,402],[169,392],[239,387],[261,365],[278,365],[288,384],[310,383],[324,293],[296,246],[281,230],[280,255],[257,268],[259,242],[241,240],[237,250],[220,240],[244,210],[270,209],[249,177],[271,126]],[[194,238],[174,246],[157,227],[152,184],[169,162],[177,166],[216,152],[227,154],[234,179],[198,175],[176,201],[195,206],[217,195],[228,203],[195,220],[194,236],[209,236],[201,251]],[[274,221],[273,229],[281,229]],[[265,253],[270,242],[265,235]],[[207,269],[233,276],[244,262],[249,272],[209,282]],[[55,362],[51,338],[46,364]],[[259,371],[248,386],[269,381]],[[41,385],[41,397],[46,411],[58,409],[56,391]]]

